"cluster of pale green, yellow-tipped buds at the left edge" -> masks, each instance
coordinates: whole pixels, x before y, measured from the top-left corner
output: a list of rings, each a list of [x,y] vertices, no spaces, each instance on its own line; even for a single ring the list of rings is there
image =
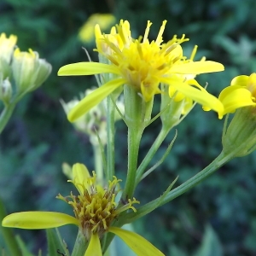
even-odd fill
[[[5,105],[12,101],[14,92],[15,96],[23,96],[37,89],[51,72],[51,65],[40,59],[38,52],[22,52],[16,43],[15,35],[0,35],[0,100]]]

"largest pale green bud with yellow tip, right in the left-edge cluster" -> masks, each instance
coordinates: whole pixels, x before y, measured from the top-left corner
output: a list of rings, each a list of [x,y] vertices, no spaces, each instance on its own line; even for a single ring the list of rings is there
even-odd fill
[[[28,52],[20,52],[15,49],[12,70],[18,93],[26,93],[36,90],[48,78],[51,65],[39,59],[38,52],[29,49]]]

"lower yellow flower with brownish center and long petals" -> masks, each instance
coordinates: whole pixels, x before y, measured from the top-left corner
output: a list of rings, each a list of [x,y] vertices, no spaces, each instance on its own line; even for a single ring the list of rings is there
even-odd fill
[[[111,232],[119,236],[131,249],[139,256],[164,255],[151,243],[142,236],[128,230],[122,230],[118,227],[112,227],[113,219],[117,218],[120,212],[128,209],[136,212],[132,206],[139,203],[135,199],[117,207],[115,202],[116,186],[119,179],[113,177],[113,181],[108,183],[108,188],[104,189],[96,183],[96,174],[90,174],[87,168],[82,164],[73,166],[72,182],[79,195],[63,197],[58,195],[57,198],[66,201],[71,207],[75,218],[61,212],[17,212],[3,218],[4,227],[14,227],[20,229],[49,229],[60,227],[65,224],[75,224],[89,241],[89,246],[84,256],[102,255],[100,239],[106,232]]]

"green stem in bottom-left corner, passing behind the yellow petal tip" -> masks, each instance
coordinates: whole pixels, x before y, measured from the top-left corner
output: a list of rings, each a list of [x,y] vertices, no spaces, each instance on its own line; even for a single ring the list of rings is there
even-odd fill
[[[2,223],[3,218],[7,215],[5,208],[3,206],[3,201],[0,199],[0,221]],[[0,231],[3,235],[3,239],[9,249],[9,253],[13,256],[21,255],[19,245],[15,239],[15,236],[10,228],[3,228],[0,224]]]

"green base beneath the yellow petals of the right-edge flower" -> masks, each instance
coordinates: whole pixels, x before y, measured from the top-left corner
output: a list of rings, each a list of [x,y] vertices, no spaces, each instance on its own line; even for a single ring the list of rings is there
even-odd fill
[[[256,149],[256,108],[244,107],[236,110],[222,138],[223,150],[226,154],[240,157]]]

